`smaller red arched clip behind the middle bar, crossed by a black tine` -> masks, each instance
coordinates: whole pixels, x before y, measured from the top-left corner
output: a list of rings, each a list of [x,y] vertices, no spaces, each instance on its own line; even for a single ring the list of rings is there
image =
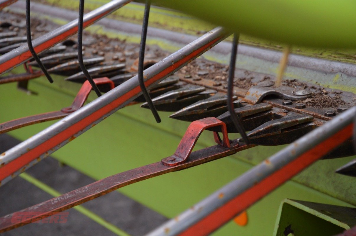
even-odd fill
[[[110,80],[108,77],[102,77],[102,78],[97,78],[94,79],[94,82],[96,85],[99,84],[109,84],[110,89],[115,88],[115,84],[112,80]],[[80,88],[77,96],[75,96],[74,101],[71,106],[63,108],[61,111],[65,113],[71,113],[73,111],[78,110],[80,107],[83,106],[84,102],[87,100],[89,93],[91,91],[91,84],[89,81],[85,81],[82,85],[82,88]]]

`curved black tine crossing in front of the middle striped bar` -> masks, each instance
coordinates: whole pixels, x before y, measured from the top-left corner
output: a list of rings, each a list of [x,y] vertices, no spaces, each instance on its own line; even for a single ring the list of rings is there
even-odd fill
[[[150,94],[146,89],[145,83],[143,82],[143,58],[145,57],[145,46],[146,46],[146,35],[148,26],[148,17],[150,15],[151,0],[146,0],[145,13],[143,15],[142,23],[142,33],[141,33],[141,44],[140,44],[140,55],[138,56],[138,82],[140,83],[140,88],[142,94],[145,97],[148,106],[150,107],[153,116],[155,117],[157,123],[161,122],[161,117],[159,117],[155,105],[152,103]]]

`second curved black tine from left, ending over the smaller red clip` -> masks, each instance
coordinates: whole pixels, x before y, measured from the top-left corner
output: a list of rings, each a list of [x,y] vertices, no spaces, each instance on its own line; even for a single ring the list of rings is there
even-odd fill
[[[93,78],[91,78],[87,68],[85,68],[84,62],[83,62],[83,17],[84,17],[84,0],[79,1],[79,17],[78,17],[78,62],[80,69],[82,69],[85,77],[87,77],[87,80],[91,84],[91,87],[95,91],[96,95],[98,97],[101,96],[101,93],[99,91],[98,86],[96,86]]]

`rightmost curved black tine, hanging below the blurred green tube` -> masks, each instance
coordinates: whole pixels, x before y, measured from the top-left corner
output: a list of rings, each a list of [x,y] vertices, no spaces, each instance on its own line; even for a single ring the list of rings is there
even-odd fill
[[[230,66],[229,66],[229,79],[227,81],[227,108],[229,109],[231,120],[236,126],[236,129],[241,134],[244,142],[248,145],[250,144],[250,140],[248,139],[244,126],[240,118],[236,115],[234,110],[234,99],[233,99],[233,90],[234,90],[234,77],[235,77],[235,66],[236,66],[236,55],[237,55],[237,44],[239,43],[239,33],[234,33],[234,40],[232,41],[232,50],[231,50],[231,58],[230,58]]]

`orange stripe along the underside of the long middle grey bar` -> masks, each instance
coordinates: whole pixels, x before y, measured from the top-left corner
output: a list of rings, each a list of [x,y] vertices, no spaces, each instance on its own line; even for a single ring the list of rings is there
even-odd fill
[[[174,63],[170,67],[162,70],[162,72],[158,73],[157,75],[153,76],[152,78],[148,79],[145,82],[145,85],[148,86],[154,82],[156,82],[158,79],[164,77],[165,75],[171,73],[175,69],[179,68],[180,65],[189,62],[189,60],[192,60],[194,57],[198,56],[200,53],[204,52],[209,47],[212,47],[212,45],[215,42],[218,42],[222,37],[218,37],[215,40],[205,44],[203,47],[197,49],[196,51],[192,52],[188,56],[184,57],[182,60],[180,60],[177,63]],[[89,125],[91,125],[93,122],[99,120],[102,116],[105,114],[108,114],[110,111],[116,109],[119,107],[121,104],[125,103],[127,100],[132,98],[134,95],[140,93],[141,89],[140,86],[135,87],[131,91],[128,91],[126,94],[122,95],[121,97],[115,99],[111,103],[101,107],[99,110],[94,111],[92,114],[89,114],[87,117],[84,119],[78,121],[77,123],[73,124],[72,126],[68,127],[66,130],[63,130],[62,132],[58,133],[57,135],[53,136],[52,138],[46,140],[45,142],[41,143],[37,147],[33,148],[32,150],[28,150],[28,152],[22,154],[21,156],[17,157],[13,161],[5,164],[3,167],[0,168],[0,182],[7,176],[11,175],[12,173],[15,173],[19,169],[25,167],[28,163],[31,161],[35,160],[37,157],[41,156],[43,153],[48,152],[49,150],[53,149],[60,143],[66,141],[66,140],[73,140],[73,136],[77,134],[78,132],[82,131]],[[59,121],[60,122],[60,121]],[[53,152],[54,150],[52,150]],[[25,170],[25,169],[23,169]]]

